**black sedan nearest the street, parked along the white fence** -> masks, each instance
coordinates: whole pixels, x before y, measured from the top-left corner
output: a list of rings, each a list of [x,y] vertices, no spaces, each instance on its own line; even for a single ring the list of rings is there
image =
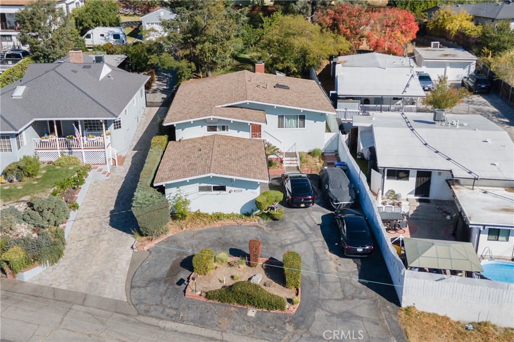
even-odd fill
[[[355,210],[338,210],[336,223],[341,234],[341,250],[346,256],[370,256],[373,254],[373,238],[364,216]]]

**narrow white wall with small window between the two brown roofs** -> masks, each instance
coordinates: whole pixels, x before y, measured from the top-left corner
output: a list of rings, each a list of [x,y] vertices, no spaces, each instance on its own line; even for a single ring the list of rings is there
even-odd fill
[[[228,125],[228,132],[208,132],[207,126]],[[250,138],[250,125],[246,122],[237,122],[230,120],[218,120],[218,122],[207,122],[206,120],[196,120],[193,123],[182,122],[176,125],[176,139],[191,139],[203,137],[211,134],[227,134],[231,137]]]

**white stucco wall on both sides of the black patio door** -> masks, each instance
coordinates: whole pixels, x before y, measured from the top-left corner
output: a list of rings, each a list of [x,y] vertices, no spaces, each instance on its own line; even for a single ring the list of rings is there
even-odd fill
[[[410,170],[409,180],[391,180],[387,179],[387,169],[384,169],[383,193],[385,194],[389,189],[393,189],[396,193],[400,193],[402,198],[414,198],[416,175],[417,170]],[[451,174],[448,171],[440,171],[440,175],[438,171],[432,171],[430,199],[453,200],[450,187],[446,183],[447,179],[451,179]]]

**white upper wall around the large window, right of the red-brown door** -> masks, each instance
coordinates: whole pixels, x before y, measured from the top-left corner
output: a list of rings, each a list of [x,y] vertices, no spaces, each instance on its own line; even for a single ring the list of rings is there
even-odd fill
[[[302,112],[299,109],[278,106],[274,108],[274,106],[253,103],[244,103],[237,106],[265,110],[267,124],[262,125],[262,138],[277,147],[281,147],[283,151],[287,151],[295,143],[298,151],[309,151],[313,148],[323,149],[325,145],[326,115],[324,113],[307,110]],[[278,128],[279,115],[305,115],[305,128]],[[274,138],[269,137],[269,135]],[[279,144],[281,146],[278,146]]]

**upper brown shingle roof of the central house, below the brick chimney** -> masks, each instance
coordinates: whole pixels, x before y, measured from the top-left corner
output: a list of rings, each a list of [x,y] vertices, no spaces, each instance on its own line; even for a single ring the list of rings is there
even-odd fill
[[[289,89],[275,88],[276,84],[286,85]],[[323,91],[312,80],[244,70],[182,82],[164,124],[214,116],[212,110],[216,106],[244,101],[335,112]],[[265,122],[261,111],[252,110],[244,114],[233,111],[227,115],[234,120]],[[248,120],[248,116],[252,120]]]

